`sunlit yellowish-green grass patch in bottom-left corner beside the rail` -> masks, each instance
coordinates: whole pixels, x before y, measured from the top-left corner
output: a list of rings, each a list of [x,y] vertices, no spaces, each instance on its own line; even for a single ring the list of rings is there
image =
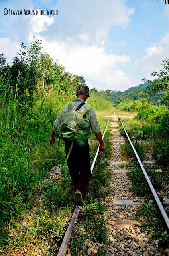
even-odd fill
[[[50,211],[41,208],[33,215],[24,216],[24,222],[12,220],[8,224],[8,232],[4,237],[5,247],[0,248],[7,255],[22,255],[35,253],[35,248],[41,250],[42,255],[51,255],[47,243],[60,241],[65,233],[65,226],[71,217],[70,208],[58,208],[51,214]]]

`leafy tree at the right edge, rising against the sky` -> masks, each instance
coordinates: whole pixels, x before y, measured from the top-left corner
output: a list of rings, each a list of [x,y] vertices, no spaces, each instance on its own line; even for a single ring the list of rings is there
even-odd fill
[[[168,98],[168,108],[169,108],[169,58],[164,58],[163,60],[163,69],[159,72],[154,71],[151,73],[151,76],[158,76],[157,79],[148,80],[146,78],[141,78],[142,81],[146,81],[151,84],[149,90],[151,92],[156,93],[160,91],[167,91],[167,98]]]

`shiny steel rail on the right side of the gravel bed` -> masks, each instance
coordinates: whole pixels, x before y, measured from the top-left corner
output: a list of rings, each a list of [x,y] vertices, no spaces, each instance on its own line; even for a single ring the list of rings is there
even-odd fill
[[[138,153],[136,152],[136,149],[134,148],[134,146],[133,146],[133,144],[132,144],[132,142],[131,142],[131,140],[130,140],[130,138],[128,136],[128,133],[126,132],[126,129],[125,129],[125,127],[124,127],[124,125],[122,123],[122,120],[120,119],[119,115],[118,115],[118,117],[119,117],[119,120],[120,120],[120,122],[121,122],[121,124],[123,126],[123,129],[124,129],[125,133],[126,133],[126,136],[127,136],[128,140],[129,140],[131,146],[132,146],[134,154],[136,155],[136,158],[137,158],[137,160],[138,160],[138,162],[140,164],[141,170],[143,171],[143,174],[144,174],[144,176],[145,176],[145,178],[147,180],[147,183],[149,184],[151,192],[152,192],[152,194],[153,194],[153,196],[155,198],[155,201],[156,201],[156,203],[157,203],[157,205],[159,207],[159,210],[160,210],[160,212],[161,212],[161,214],[162,214],[162,216],[164,218],[164,221],[165,221],[165,223],[166,223],[166,225],[167,225],[167,227],[169,229],[169,218],[168,218],[168,216],[167,216],[167,214],[166,214],[166,212],[165,212],[165,210],[163,208],[163,205],[161,204],[161,202],[159,200],[159,197],[158,197],[158,195],[157,195],[157,193],[156,193],[156,191],[155,191],[155,189],[153,187],[153,184],[151,183],[151,180],[149,179],[149,176],[147,175],[147,172],[146,172],[146,170],[145,170],[145,168],[144,168],[144,166],[143,166],[143,164],[142,164],[142,162],[140,160],[140,157],[138,156]]]

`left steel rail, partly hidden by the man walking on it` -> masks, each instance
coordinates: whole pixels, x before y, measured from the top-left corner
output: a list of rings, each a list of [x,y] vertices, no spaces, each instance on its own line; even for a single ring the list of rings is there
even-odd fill
[[[108,127],[109,120],[110,120],[110,117],[109,117],[109,119],[108,119],[108,122],[107,122],[106,128],[105,128],[105,130],[104,130],[102,139],[104,138],[104,135],[105,135],[105,133],[106,133],[106,129],[107,129],[107,127]],[[93,160],[93,162],[92,162],[91,174],[92,174],[92,171],[93,171],[93,169],[94,169],[94,165],[95,165],[95,163],[96,163],[96,159],[97,159],[97,157],[98,157],[99,147],[100,147],[100,144],[99,144],[99,146],[98,146],[98,150],[97,150],[96,155],[95,155],[95,157],[94,157],[94,160]],[[65,253],[66,253],[66,251],[67,251],[67,246],[68,246],[68,244],[69,244],[69,240],[70,240],[70,238],[71,238],[71,234],[72,234],[72,231],[73,231],[73,227],[74,227],[74,225],[75,225],[75,223],[76,223],[76,220],[77,220],[77,217],[78,217],[78,215],[79,215],[79,210],[80,210],[80,206],[77,205],[77,206],[75,207],[74,212],[73,212],[71,221],[69,222],[69,226],[68,226],[68,228],[67,228],[67,231],[66,231],[66,233],[65,233],[65,236],[64,236],[64,238],[63,238],[63,241],[62,241],[62,244],[61,244],[61,247],[60,247],[60,249],[59,249],[59,252],[58,252],[57,256],[65,256]]]

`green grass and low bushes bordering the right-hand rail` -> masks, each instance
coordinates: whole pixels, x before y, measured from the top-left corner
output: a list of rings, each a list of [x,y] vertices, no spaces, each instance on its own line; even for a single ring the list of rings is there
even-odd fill
[[[167,194],[169,183],[169,158],[167,153],[169,150],[169,110],[166,106],[151,106],[147,104],[146,100],[137,101],[135,106],[138,105],[140,108],[132,106],[129,109],[131,111],[136,109],[138,111],[137,116],[132,120],[122,118],[122,121],[141,160],[147,160],[147,158],[151,160],[151,156],[153,156],[157,161],[158,166],[155,169],[159,168],[162,172],[157,172],[151,166],[147,166],[146,171],[154,188],[159,192],[166,191]],[[120,109],[123,109],[122,103],[120,104]],[[121,134],[125,136],[120,122],[119,127]],[[128,172],[128,177],[132,184],[130,190],[138,196],[146,196],[147,198],[147,204],[142,206],[141,211],[138,212],[139,218],[141,216],[146,219],[143,223],[143,229],[153,235],[163,232],[165,229],[162,224],[163,220],[159,217],[159,210],[155,204],[152,201],[150,202],[150,199],[152,199],[151,192],[128,142],[122,145],[122,155],[125,160],[131,159],[126,164],[126,168],[130,170]]]

